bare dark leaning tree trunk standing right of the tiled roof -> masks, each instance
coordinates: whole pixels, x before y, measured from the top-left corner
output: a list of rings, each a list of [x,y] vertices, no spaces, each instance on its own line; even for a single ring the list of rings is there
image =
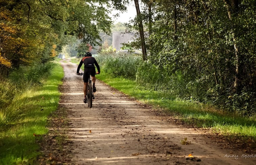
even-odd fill
[[[146,51],[146,43],[145,43],[145,37],[144,37],[144,30],[143,30],[143,23],[140,18],[140,7],[139,7],[139,1],[134,0],[135,8],[137,12],[137,18],[138,18],[138,26],[139,26],[139,32],[140,32],[140,40],[141,40],[141,49],[142,49],[142,58],[145,61],[147,59],[147,51]]]

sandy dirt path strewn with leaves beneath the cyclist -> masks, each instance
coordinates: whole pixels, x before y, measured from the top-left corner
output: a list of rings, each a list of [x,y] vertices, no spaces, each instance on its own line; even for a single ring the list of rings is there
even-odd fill
[[[196,129],[177,126],[171,118],[158,116],[156,110],[99,81],[93,108],[88,108],[83,103],[82,77],[75,75],[77,65],[62,65],[65,78],[60,105],[68,109],[72,141],[68,150],[74,164],[256,164],[256,153],[245,159],[248,154],[224,149]],[[191,144],[181,144],[185,137]],[[189,154],[194,158],[188,158]]]

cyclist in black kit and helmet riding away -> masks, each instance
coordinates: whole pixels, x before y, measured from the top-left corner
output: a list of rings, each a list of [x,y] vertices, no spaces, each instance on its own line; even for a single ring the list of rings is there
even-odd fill
[[[79,65],[77,67],[77,71],[76,71],[77,75],[80,75],[79,70],[80,70],[80,67],[83,65],[83,63],[84,63],[84,66],[85,66],[84,77],[83,77],[83,79],[84,79],[83,91],[84,91],[84,95],[85,95],[84,103],[87,103],[86,94],[87,94],[87,84],[88,84],[89,77],[90,77],[90,75],[92,76],[92,82],[93,82],[92,89],[93,89],[93,92],[96,92],[96,87],[95,87],[96,77],[95,77],[95,74],[100,74],[100,69],[99,69],[99,64],[97,63],[95,58],[92,57],[92,54],[90,52],[87,52],[85,54],[85,57],[82,58],[82,60],[80,61]],[[96,65],[98,72],[96,72],[94,64]]]

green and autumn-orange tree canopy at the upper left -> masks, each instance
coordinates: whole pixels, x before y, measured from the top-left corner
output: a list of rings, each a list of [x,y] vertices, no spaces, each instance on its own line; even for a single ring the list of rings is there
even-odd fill
[[[101,0],[90,5],[83,0],[1,1],[0,75],[7,77],[12,68],[35,61],[53,60],[70,35],[84,44],[100,44],[99,32],[109,34],[112,25],[105,4],[109,6]]]

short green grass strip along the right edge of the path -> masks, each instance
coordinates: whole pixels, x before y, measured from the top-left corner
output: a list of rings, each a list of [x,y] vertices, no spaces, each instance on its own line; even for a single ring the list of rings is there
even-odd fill
[[[214,132],[229,136],[256,140],[255,118],[236,116],[219,112],[206,105],[188,103],[177,99],[174,95],[148,90],[135,81],[112,77],[106,73],[97,75],[97,78],[137,100],[165,109],[187,124],[199,128],[211,128]]]

